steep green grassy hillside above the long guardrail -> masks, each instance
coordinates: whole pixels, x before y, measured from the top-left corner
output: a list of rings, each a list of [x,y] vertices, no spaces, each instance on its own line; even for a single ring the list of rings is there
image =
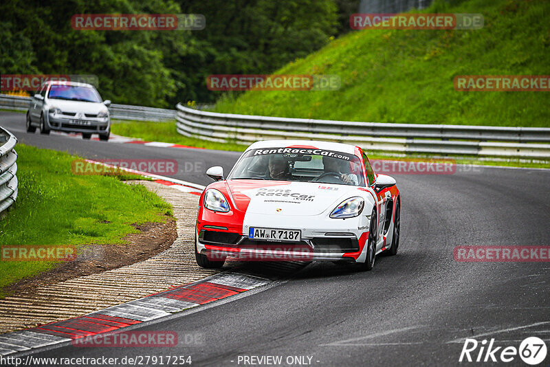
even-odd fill
[[[337,74],[338,91],[248,91],[215,111],[368,122],[550,126],[548,91],[455,91],[458,75],[550,75],[550,1],[439,1],[481,30],[362,30],[274,74]]]

